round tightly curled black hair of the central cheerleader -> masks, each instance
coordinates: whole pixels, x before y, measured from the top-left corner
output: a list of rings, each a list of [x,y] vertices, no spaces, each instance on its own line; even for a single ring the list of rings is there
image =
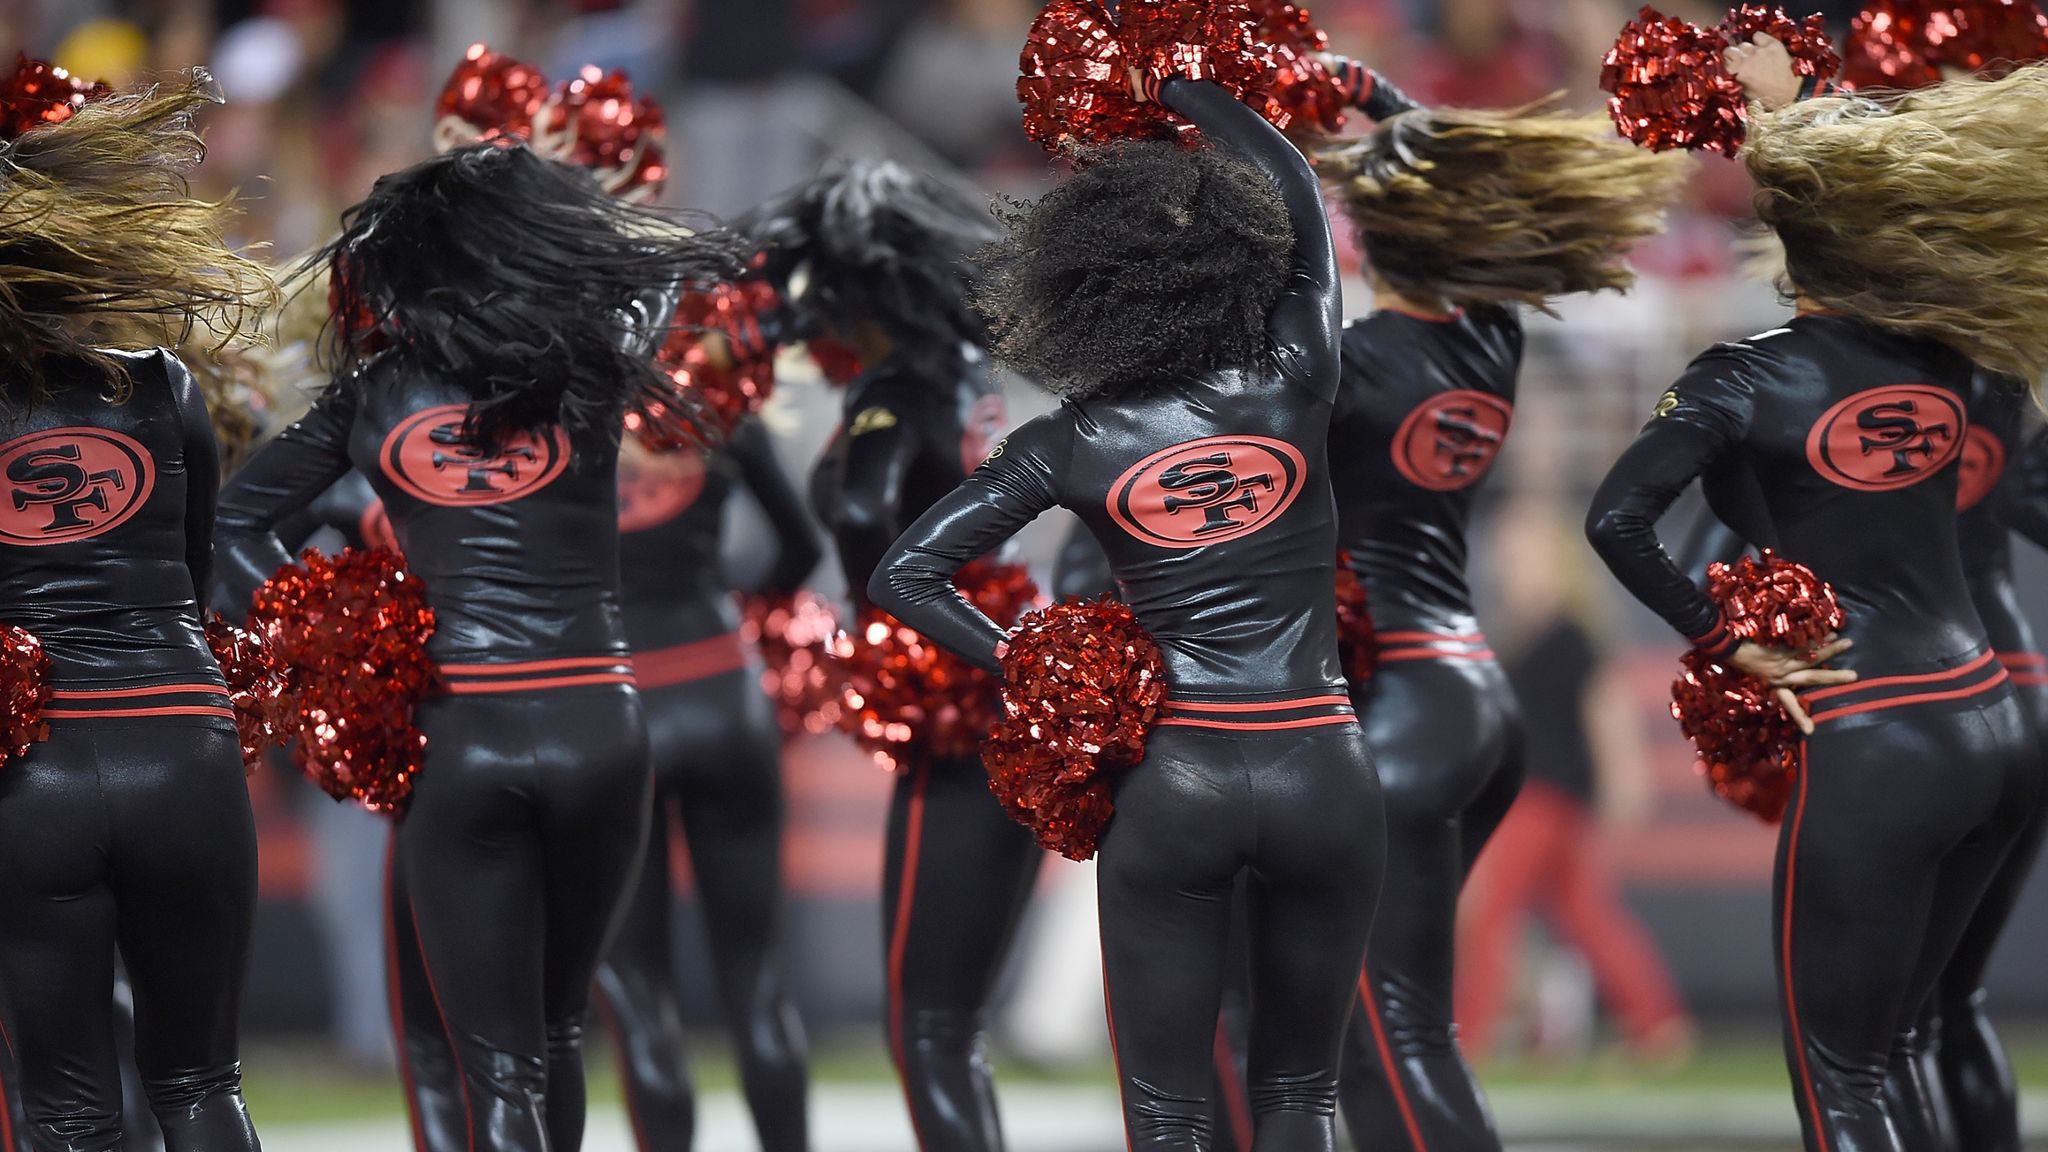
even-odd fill
[[[1163,141],[1075,158],[1073,178],[999,213],[1010,232],[979,256],[997,359],[1067,400],[1251,363],[1294,248],[1272,180]]]

